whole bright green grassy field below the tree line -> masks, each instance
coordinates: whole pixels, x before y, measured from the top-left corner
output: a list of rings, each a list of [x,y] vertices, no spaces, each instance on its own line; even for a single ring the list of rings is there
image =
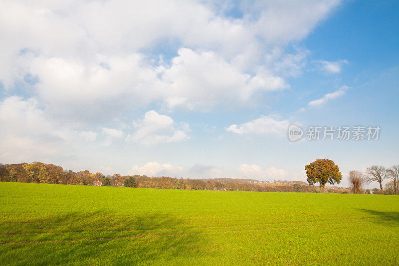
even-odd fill
[[[0,265],[399,265],[399,197],[0,183]]]

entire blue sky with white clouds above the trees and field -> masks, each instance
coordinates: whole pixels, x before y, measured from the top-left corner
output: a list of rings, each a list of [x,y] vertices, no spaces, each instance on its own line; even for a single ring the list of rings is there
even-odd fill
[[[2,163],[306,180],[330,158],[343,186],[399,163],[398,1],[0,5]],[[290,124],[381,132],[293,143]]]

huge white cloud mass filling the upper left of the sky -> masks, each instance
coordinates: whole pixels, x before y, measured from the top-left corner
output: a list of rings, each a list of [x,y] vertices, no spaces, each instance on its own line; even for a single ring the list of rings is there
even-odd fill
[[[338,4],[4,0],[0,80],[9,90],[31,74],[54,116],[87,123],[159,101],[202,111],[248,107],[257,93],[288,87],[279,73],[297,75],[306,54],[285,47]],[[229,8],[243,17],[223,15]],[[154,60],[161,43],[178,56]]]

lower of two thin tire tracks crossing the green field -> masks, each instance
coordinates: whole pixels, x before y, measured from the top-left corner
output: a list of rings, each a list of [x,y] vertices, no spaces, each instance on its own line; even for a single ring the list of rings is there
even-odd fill
[[[381,222],[394,221],[383,220]],[[211,235],[211,234],[228,234],[228,233],[242,233],[242,232],[257,232],[257,231],[269,231],[269,230],[288,230],[296,228],[313,228],[322,226],[334,226],[334,225],[349,225],[349,224],[360,224],[367,221],[350,222],[350,223],[334,223],[334,224],[322,224],[322,225],[305,225],[305,226],[292,226],[292,227],[276,227],[276,228],[260,228],[260,229],[246,229],[246,230],[233,230],[233,231],[219,231],[219,232],[198,232],[198,233],[181,233],[181,234],[162,234],[162,235],[142,235],[142,236],[127,236],[127,237],[111,237],[111,238],[93,238],[93,239],[68,239],[68,240],[32,240],[32,241],[15,241],[15,242],[0,242],[0,245],[14,245],[14,244],[33,244],[33,243],[58,243],[58,242],[78,242],[78,241],[102,241],[102,240],[120,240],[120,239],[144,239],[144,238],[159,238],[159,237],[179,237],[179,236],[190,236],[190,235]]]

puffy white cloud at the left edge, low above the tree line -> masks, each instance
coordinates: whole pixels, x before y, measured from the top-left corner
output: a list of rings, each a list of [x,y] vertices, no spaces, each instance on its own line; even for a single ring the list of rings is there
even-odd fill
[[[0,159],[11,162],[66,155],[73,132],[48,120],[34,98],[0,102]],[[63,152],[63,153],[62,153]]]

